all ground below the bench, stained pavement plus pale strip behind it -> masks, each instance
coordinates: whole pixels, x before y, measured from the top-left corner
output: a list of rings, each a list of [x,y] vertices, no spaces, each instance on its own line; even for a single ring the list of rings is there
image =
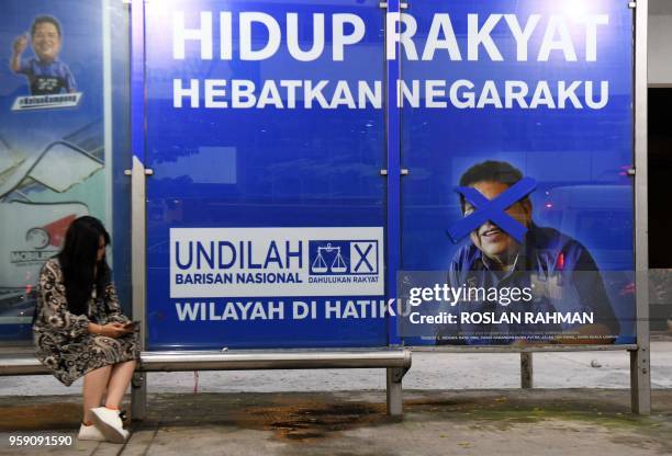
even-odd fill
[[[382,369],[157,373],[125,445],[76,441],[80,383],[0,377],[0,455],[672,454],[672,342],[651,349],[651,417],[630,413],[627,352],[536,353],[533,390],[517,354],[415,352],[401,420]],[[72,442],[10,446],[40,435]]]

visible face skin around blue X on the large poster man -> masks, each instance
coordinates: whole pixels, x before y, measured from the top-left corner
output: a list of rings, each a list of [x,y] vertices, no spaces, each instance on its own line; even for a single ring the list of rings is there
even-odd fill
[[[488,200],[493,200],[508,190],[502,182],[482,181],[470,185],[478,190]],[[473,213],[475,208],[468,201],[464,202],[464,216]],[[506,209],[506,214],[515,218],[520,225],[529,227],[531,224],[531,204],[528,198],[514,203]],[[499,264],[511,264],[518,251],[518,242],[503,231],[500,227],[488,220],[478,229],[471,231],[471,242],[490,260]]]

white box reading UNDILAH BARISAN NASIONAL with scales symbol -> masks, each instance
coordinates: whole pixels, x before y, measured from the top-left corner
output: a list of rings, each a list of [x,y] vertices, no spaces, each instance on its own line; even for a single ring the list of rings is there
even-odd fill
[[[382,227],[171,228],[170,297],[380,296],[383,232]]]

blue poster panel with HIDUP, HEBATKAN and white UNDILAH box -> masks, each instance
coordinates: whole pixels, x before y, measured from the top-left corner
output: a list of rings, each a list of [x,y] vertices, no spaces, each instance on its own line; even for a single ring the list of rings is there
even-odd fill
[[[384,346],[384,10],[145,3],[147,345]]]

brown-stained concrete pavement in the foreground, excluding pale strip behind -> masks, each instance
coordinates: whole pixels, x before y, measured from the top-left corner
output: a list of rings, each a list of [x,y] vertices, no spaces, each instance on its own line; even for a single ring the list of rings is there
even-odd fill
[[[75,436],[78,397],[0,398],[0,455],[661,455],[672,454],[672,391],[629,413],[616,389],[422,390],[403,419],[383,391],[163,394],[125,445],[9,446],[10,435]]]

